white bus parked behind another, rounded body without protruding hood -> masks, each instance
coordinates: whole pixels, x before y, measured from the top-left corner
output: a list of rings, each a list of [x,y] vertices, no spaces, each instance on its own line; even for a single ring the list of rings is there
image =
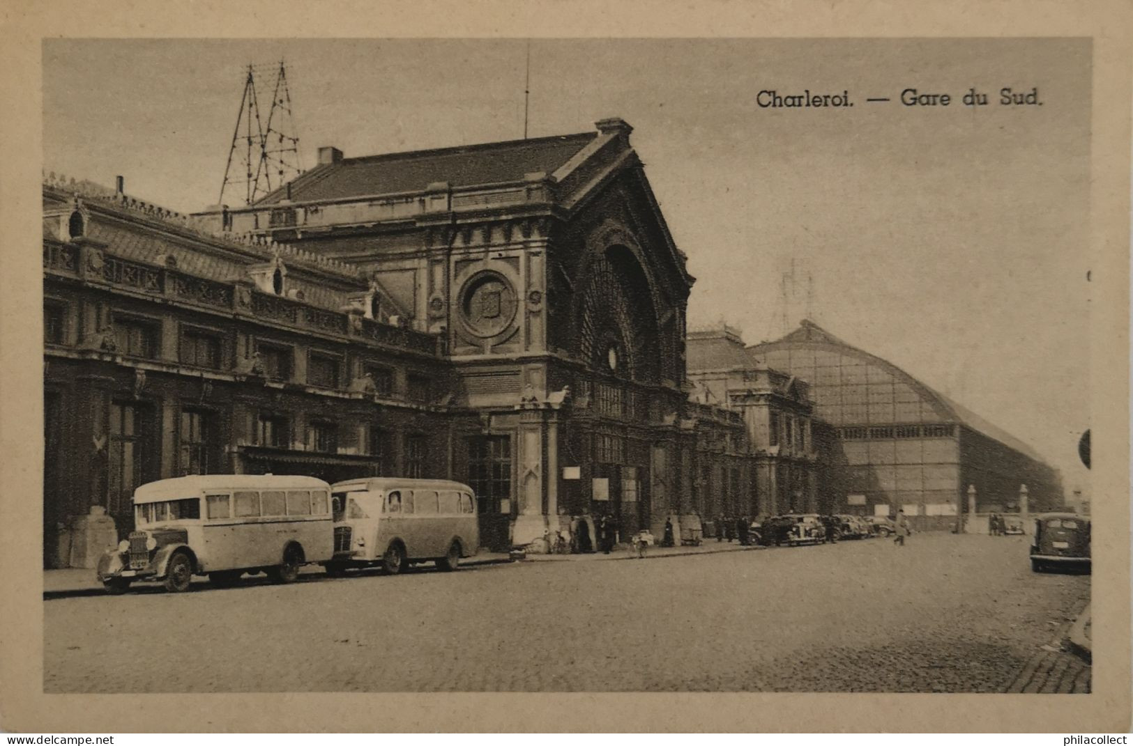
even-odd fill
[[[452,571],[479,551],[476,496],[468,485],[375,477],[338,482],[331,494],[334,558],[324,563],[330,575],[376,564],[395,575],[429,560]]]

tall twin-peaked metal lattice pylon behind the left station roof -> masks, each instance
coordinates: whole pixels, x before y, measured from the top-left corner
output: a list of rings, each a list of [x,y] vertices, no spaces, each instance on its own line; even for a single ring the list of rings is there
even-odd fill
[[[256,75],[262,76],[269,69],[275,74],[275,86],[267,120],[264,121],[259,115]],[[242,191],[240,198],[244,204],[250,205],[303,173],[303,154],[295,131],[291,92],[283,61],[279,67],[271,68],[249,65],[232,131],[232,146],[224,166],[224,181],[220,187],[220,204],[225,204],[225,195]]]

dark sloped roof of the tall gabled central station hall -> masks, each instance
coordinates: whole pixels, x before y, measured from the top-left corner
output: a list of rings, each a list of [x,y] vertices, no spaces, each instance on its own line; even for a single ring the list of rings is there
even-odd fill
[[[528,173],[551,174],[596,137],[598,132],[593,131],[343,158],[295,179],[291,200],[419,191],[442,181],[453,187],[521,181]],[[276,204],[286,196],[283,187],[256,204]]]

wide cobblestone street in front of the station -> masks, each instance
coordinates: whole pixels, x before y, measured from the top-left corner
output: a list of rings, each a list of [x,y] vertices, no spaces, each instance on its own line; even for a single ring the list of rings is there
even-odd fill
[[[1024,537],[255,578],[44,601],[58,692],[1084,692]],[[1045,648],[1046,646],[1046,648]]]

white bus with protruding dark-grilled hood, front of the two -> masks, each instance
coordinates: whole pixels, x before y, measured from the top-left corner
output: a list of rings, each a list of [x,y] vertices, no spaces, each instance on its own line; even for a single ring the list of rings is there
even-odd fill
[[[194,575],[230,585],[246,572],[289,583],[333,554],[330,485],[313,477],[208,474],[143,485],[137,530],[99,560],[111,593],[135,581],[186,591]]]

